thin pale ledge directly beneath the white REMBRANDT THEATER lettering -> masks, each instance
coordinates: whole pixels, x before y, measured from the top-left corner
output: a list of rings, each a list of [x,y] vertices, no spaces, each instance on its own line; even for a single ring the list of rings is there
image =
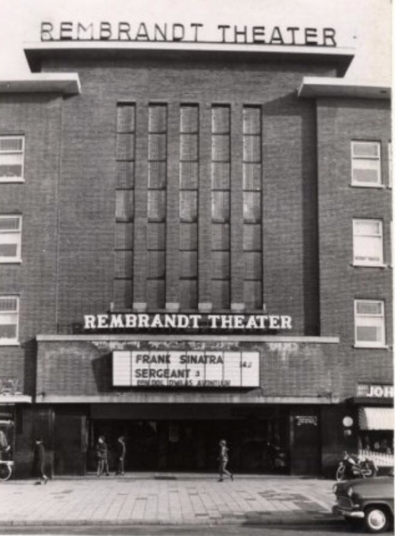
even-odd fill
[[[307,343],[307,344],[339,344],[339,337],[293,337],[288,335],[163,335],[152,333],[146,334],[109,334],[109,335],[37,335],[37,342],[133,342],[135,340],[147,341],[199,341],[199,342],[277,342],[284,343]]]

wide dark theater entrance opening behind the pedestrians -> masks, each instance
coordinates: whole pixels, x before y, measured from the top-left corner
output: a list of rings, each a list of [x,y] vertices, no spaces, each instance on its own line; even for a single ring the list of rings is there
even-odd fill
[[[229,466],[243,473],[288,471],[288,420],[108,420],[90,426],[88,470],[95,470],[95,441],[103,435],[109,447],[111,468],[119,435],[127,443],[127,471],[215,472],[218,442],[226,439]]]

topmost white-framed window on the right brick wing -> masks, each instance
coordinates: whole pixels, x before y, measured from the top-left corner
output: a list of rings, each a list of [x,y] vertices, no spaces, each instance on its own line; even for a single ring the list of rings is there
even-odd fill
[[[382,185],[380,153],[381,147],[378,141],[351,141],[353,186]]]

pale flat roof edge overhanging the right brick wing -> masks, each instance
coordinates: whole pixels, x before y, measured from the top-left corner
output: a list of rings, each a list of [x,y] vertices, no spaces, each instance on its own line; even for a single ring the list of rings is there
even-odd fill
[[[319,96],[343,96],[352,98],[391,99],[391,86],[373,82],[358,82],[337,78],[304,77],[298,96],[317,98]]]

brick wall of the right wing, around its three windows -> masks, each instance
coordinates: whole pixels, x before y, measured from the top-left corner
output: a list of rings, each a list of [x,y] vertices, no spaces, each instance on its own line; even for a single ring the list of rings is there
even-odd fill
[[[323,335],[338,334],[342,390],[392,379],[391,188],[389,101],[319,99],[317,103],[320,319]],[[351,140],[382,142],[383,188],[351,187]],[[352,265],[352,219],[383,219],[384,268]],[[385,302],[390,348],[354,348],[354,299]]]

